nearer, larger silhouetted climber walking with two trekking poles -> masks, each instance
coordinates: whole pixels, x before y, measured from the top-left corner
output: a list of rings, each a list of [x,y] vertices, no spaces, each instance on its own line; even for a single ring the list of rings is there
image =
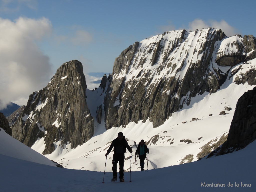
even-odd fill
[[[109,155],[114,147],[113,155],[113,179],[111,181],[115,182],[117,180],[117,163],[119,162],[119,179],[120,182],[124,182],[124,154],[126,153],[126,148],[130,153],[132,153],[132,148],[129,146],[128,142],[125,140],[125,136],[122,132],[118,133],[118,137],[114,139],[111,143],[109,150],[106,153],[106,157]]]

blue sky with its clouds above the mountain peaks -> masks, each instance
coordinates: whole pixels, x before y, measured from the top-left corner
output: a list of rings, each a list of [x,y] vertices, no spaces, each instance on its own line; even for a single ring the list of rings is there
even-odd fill
[[[124,49],[165,31],[214,27],[228,36],[256,36],[255,6],[223,0],[2,0],[0,100],[26,104],[29,94],[74,59],[85,73],[111,73]]]

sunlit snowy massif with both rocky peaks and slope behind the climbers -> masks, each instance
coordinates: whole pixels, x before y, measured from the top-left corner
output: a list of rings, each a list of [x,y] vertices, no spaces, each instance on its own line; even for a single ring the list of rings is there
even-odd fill
[[[238,99],[256,85],[255,49],[254,37],[219,29],[166,32],[123,51],[96,90],[79,61],[64,63],[30,95],[13,136],[72,169],[104,170],[118,132],[134,152],[146,141],[148,169],[197,161],[227,140]]]

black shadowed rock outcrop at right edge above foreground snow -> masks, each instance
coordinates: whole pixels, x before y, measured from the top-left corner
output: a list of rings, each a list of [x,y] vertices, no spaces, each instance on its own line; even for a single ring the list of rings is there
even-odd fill
[[[219,155],[245,148],[256,140],[256,87],[238,100],[227,141]]]

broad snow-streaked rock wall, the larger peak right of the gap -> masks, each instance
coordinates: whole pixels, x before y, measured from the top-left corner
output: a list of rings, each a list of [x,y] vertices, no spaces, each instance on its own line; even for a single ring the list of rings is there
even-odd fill
[[[136,42],[116,58],[104,100],[106,128],[150,119],[162,125],[191,97],[215,93],[232,67],[256,57],[253,36],[228,38],[219,29],[170,31]],[[232,71],[256,85],[255,68]],[[239,76],[237,76],[239,74]]]

